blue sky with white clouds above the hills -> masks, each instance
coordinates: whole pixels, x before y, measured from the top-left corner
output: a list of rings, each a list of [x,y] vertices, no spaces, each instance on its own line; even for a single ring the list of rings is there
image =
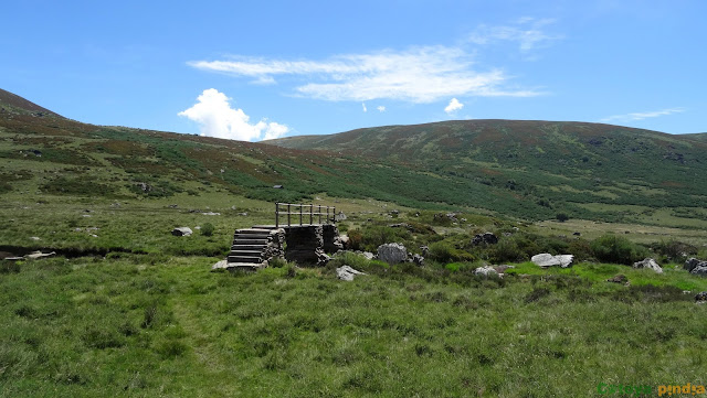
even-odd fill
[[[222,138],[453,119],[707,132],[707,1],[14,1],[0,88]]]

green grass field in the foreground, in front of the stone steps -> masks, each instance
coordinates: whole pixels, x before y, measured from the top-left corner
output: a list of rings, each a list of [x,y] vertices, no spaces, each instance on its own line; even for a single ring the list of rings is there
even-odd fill
[[[330,269],[209,272],[219,259],[4,269],[0,395],[591,397],[600,383],[707,383],[707,306],[682,292],[682,270],[520,265],[483,280],[370,265],[341,282]],[[635,284],[603,281],[619,272]]]

